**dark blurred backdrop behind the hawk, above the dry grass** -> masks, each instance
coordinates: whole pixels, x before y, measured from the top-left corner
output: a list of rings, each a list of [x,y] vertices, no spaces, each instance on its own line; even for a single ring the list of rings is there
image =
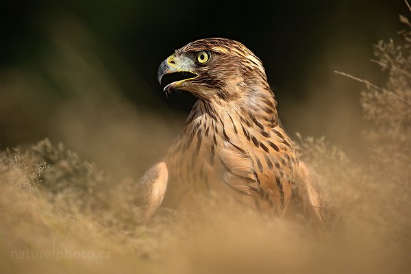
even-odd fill
[[[190,41],[218,36],[264,62],[292,136],[325,136],[355,153],[363,86],[334,71],[386,82],[370,62],[373,44],[395,36],[406,12],[401,0],[1,0],[0,149],[48,137],[114,171],[121,166],[112,162],[126,160],[146,169],[195,101],[165,97],[158,65]]]

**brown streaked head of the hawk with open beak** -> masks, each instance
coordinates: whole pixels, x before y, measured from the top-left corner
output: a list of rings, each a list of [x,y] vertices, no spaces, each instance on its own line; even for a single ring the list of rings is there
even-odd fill
[[[261,60],[240,42],[207,38],[177,49],[158,68],[166,93],[186,90],[203,101],[232,101],[268,90]]]

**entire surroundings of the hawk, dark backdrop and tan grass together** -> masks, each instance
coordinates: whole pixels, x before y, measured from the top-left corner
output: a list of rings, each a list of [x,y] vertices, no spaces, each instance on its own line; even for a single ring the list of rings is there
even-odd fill
[[[410,28],[397,34],[411,24],[399,14],[410,16],[403,0],[0,0],[0,273],[411,273]],[[344,235],[237,203],[161,208],[141,225],[136,182],[195,101],[166,97],[158,65],[211,36],[264,62]],[[53,258],[13,258],[24,251]]]

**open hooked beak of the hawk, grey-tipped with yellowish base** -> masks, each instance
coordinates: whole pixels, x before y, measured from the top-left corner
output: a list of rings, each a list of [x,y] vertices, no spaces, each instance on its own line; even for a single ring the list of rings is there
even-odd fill
[[[184,62],[180,58],[176,58],[175,54],[171,55],[169,58],[164,60],[158,67],[158,82],[164,86],[163,90],[168,94],[171,90],[181,88],[186,86],[187,80],[195,79],[199,75],[193,73],[188,69],[181,69],[182,66],[187,67],[184,64],[178,64],[179,62]]]

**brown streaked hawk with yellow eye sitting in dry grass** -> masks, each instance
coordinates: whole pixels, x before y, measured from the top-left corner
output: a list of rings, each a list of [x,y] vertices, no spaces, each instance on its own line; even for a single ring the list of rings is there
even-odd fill
[[[322,197],[284,132],[256,55],[234,40],[197,40],[160,64],[160,84],[166,78],[165,92],[185,90],[198,100],[164,160],[140,181],[146,220],[163,198],[192,207],[199,196],[228,196],[276,216],[300,210],[323,223]]]

